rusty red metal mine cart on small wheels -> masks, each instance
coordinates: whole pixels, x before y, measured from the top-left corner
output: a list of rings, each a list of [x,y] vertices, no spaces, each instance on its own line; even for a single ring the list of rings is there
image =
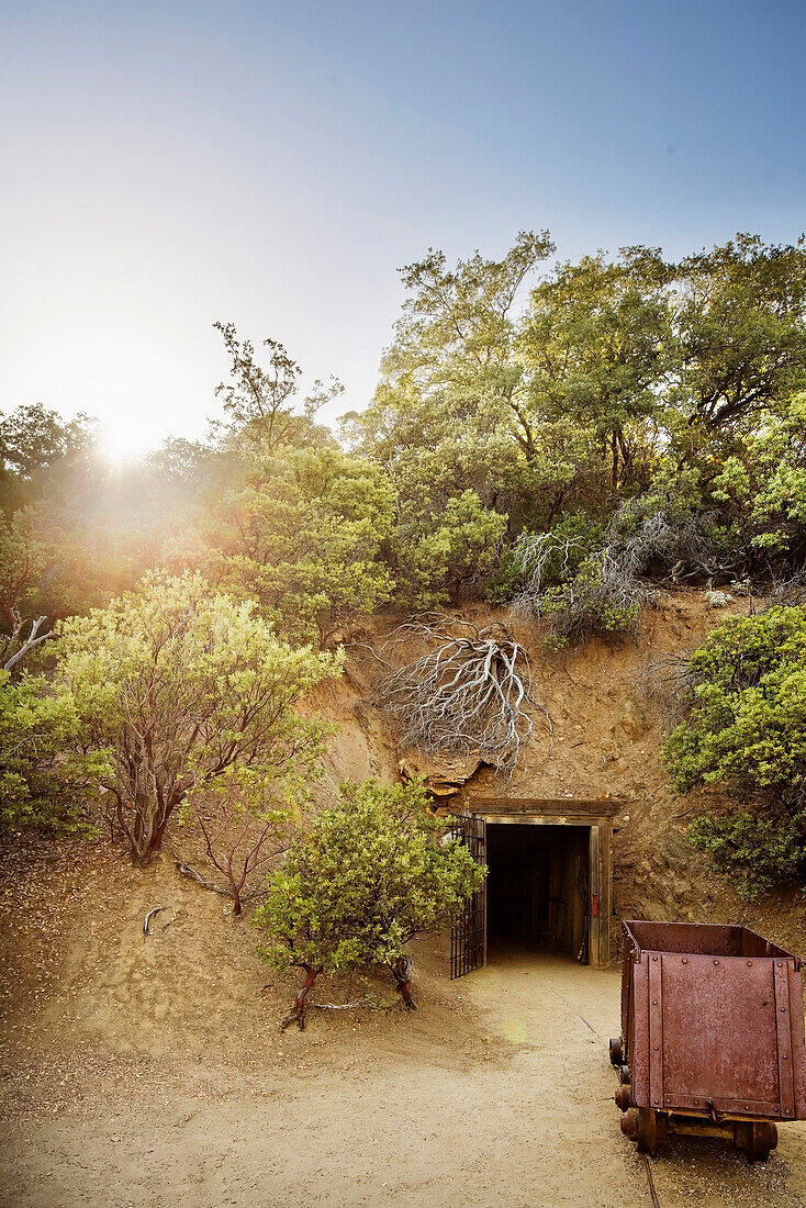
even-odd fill
[[[631,920],[624,939],[624,1132],[645,1152],[718,1133],[765,1158],[776,1122],[806,1119],[801,960],[744,927]]]

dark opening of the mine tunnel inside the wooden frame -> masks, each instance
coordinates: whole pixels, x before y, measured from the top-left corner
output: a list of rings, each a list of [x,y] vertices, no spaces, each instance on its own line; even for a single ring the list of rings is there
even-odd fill
[[[588,826],[487,826],[487,942],[587,963]]]

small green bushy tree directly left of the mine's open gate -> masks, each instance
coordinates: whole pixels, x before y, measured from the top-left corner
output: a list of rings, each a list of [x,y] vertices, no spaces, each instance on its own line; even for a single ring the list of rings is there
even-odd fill
[[[284,1027],[305,1027],[320,974],[383,966],[413,1009],[407,945],[446,927],[480,888],[485,870],[428,809],[422,784],[342,786],[272,873],[254,920],[268,935],[261,954],[305,974]]]

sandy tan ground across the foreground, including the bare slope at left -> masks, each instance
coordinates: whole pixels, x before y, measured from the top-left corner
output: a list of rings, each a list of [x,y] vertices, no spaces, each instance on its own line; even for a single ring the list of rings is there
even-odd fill
[[[74,841],[18,852],[2,889],[2,1204],[650,1202],[611,1102],[615,972],[503,953],[450,982],[430,945],[416,1015],[377,982],[390,1009],[280,1034],[290,985],[169,864]],[[766,1166],[679,1142],[653,1169],[662,1208],[804,1206],[806,1128]]]

